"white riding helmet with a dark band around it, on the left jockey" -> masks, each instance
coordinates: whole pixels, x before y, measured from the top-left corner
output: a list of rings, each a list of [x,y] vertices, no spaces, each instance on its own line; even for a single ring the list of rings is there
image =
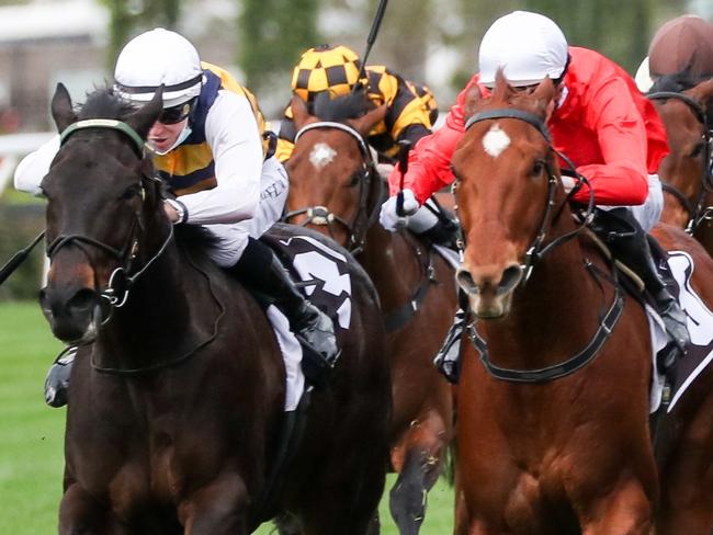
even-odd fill
[[[114,80],[114,89],[136,103],[151,100],[162,83],[163,107],[173,107],[201,93],[203,68],[190,41],[157,27],[124,46],[116,59]]]

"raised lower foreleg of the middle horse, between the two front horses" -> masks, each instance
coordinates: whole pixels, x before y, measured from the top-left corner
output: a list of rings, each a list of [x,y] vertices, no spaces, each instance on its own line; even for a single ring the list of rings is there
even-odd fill
[[[443,467],[445,426],[431,411],[422,422],[411,424],[394,448],[392,464],[399,473],[389,496],[392,516],[400,535],[417,535],[426,513],[428,491]]]

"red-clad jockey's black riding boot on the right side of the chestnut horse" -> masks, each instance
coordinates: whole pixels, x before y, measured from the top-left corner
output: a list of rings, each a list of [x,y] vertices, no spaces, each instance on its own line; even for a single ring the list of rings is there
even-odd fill
[[[661,251],[661,258],[665,259],[666,253],[653,237],[646,235],[626,208],[598,212],[593,229],[607,241],[614,258],[631,268],[642,278],[671,339],[661,351],[661,358],[659,358],[664,371],[669,369],[676,358],[686,353],[690,335],[687,315],[669,293],[666,281],[661,280],[652,257],[649,242],[656,250]]]

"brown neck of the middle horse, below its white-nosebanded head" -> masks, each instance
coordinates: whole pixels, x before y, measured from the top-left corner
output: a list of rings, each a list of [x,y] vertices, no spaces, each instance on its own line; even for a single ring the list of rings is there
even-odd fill
[[[369,228],[358,260],[374,282],[385,311],[411,298],[426,276],[427,254],[428,250],[414,238],[388,232],[378,223]]]

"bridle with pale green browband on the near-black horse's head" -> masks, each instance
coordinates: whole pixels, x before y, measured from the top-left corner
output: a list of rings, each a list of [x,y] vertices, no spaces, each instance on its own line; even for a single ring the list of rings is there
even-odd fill
[[[78,130],[87,128],[110,128],[123,133],[133,141],[134,149],[136,149],[139,160],[144,159],[144,140],[129,125],[114,119],[87,119],[73,123],[61,133],[59,137],[60,147],[64,146],[69,136]],[[84,235],[59,235],[48,243],[46,248],[47,257],[50,261],[60,249],[68,244],[75,244],[84,252],[87,258],[90,259],[90,262],[91,257],[87,250],[88,246],[107,253],[120,263],[120,266],[110,275],[106,287],[97,292],[100,297],[100,303],[104,303],[105,305],[105,307],[100,307],[102,310],[102,325],[105,325],[112,318],[115,308],[121,308],[126,304],[128,293],[136,280],[140,277],[146,270],[148,270],[150,265],[161,257],[161,254],[163,254],[168,244],[173,239],[173,225],[169,223],[167,236],[158,250],[147,262],[144,263],[142,268],[135,269],[135,260],[139,249],[139,239],[145,230],[144,218],[142,216],[142,208],[146,202],[145,180],[155,181],[160,184],[160,179],[149,177],[146,173],[140,174],[138,179],[138,187],[142,196],[142,206],[134,214],[129,230],[121,249]],[[107,308],[107,311],[104,310],[105,308]]]

